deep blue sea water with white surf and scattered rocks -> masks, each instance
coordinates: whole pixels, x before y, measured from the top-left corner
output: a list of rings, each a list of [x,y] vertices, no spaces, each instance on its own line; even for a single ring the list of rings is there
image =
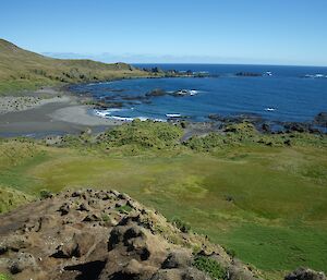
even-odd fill
[[[208,115],[258,114],[268,121],[311,122],[327,111],[327,68],[225,64],[136,64],[164,70],[204,72],[210,77],[133,78],[77,85],[72,89],[87,93],[122,108],[108,110],[108,118],[167,119],[178,113],[193,121]],[[239,72],[263,76],[237,76]],[[271,75],[267,75],[271,72]],[[305,77],[306,76],[306,77]],[[145,98],[146,93],[196,90],[194,96],[171,95]],[[268,108],[274,110],[267,110]]]

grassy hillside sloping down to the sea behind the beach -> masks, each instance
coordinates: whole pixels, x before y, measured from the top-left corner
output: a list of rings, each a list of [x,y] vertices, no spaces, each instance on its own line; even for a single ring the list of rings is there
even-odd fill
[[[0,92],[148,75],[125,63],[52,59],[0,39]]]

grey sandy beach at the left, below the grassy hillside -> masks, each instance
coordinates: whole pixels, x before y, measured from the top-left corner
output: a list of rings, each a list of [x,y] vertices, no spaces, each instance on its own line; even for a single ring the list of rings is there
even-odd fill
[[[78,97],[51,88],[0,97],[0,136],[44,137],[86,129],[99,132],[122,123],[93,115],[90,110]]]

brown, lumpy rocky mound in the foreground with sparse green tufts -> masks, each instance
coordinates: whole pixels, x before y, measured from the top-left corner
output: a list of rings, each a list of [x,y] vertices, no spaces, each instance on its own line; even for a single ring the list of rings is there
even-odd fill
[[[259,272],[117,191],[66,191],[0,216],[0,275],[13,279],[254,280]],[[217,277],[219,275],[219,277]],[[299,269],[288,280],[326,280]]]

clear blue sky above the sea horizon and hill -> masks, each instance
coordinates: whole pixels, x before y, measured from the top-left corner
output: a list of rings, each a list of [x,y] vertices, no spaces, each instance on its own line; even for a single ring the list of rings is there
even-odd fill
[[[108,62],[327,65],[327,1],[1,0],[0,37]]]

